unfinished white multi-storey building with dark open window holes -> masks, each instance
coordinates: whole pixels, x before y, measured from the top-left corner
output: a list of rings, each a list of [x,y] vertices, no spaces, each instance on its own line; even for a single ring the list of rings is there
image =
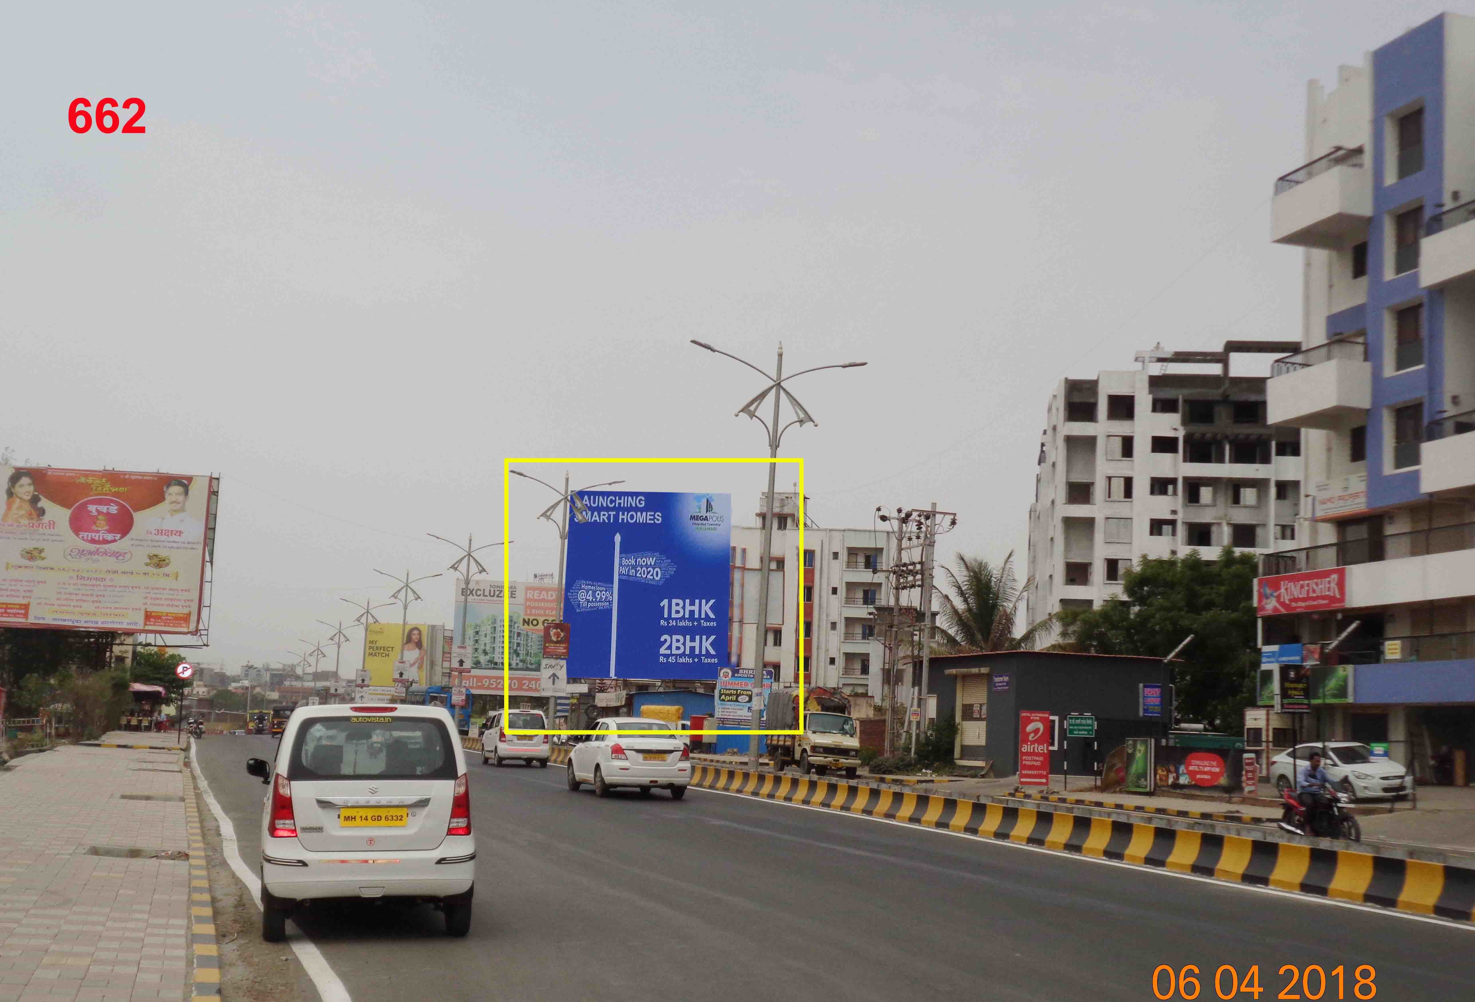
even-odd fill
[[[1122,572],[1143,556],[1199,550],[1212,558],[1226,545],[1252,553],[1295,545],[1299,436],[1267,423],[1263,376],[1230,374],[1235,355],[1295,348],[1159,346],[1137,354],[1139,370],[1061,380],[1030,507],[1031,622],[1120,594]]]

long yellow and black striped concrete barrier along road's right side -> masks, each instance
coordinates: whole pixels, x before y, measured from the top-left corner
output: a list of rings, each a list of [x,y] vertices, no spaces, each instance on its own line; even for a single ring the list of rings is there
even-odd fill
[[[693,785],[1137,866],[1475,921],[1475,869],[926,793],[698,765]]]

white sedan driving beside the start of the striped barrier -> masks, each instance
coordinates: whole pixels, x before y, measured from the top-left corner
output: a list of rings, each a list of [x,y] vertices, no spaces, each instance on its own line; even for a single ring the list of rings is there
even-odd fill
[[[645,796],[664,787],[677,800],[686,796],[692,782],[692,750],[670,724],[646,716],[612,716],[599,721],[594,731],[569,753],[569,790],[591,782],[600,797],[608,797],[615,787],[637,787]]]

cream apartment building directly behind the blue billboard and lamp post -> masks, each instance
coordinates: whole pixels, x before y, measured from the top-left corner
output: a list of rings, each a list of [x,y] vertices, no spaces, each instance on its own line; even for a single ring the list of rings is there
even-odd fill
[[[755,525],[732,533],[732,663],[757,662],[758,558],[763,553],[760,495]],[[882,570],[889,566],[892,536],[884,529],[822,529],[807,523],[799,548],[796,494],[774,495],[768,637],[764,663],[782,684],[798,675],[799,623],[804,665],[811,685],[839,687],[881,697],[882,647],[876,610],[885,598]]]

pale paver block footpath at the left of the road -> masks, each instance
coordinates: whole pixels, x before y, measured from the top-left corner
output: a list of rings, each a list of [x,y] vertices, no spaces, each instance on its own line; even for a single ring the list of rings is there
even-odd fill
[[[140,737],[165,735],[103,743]],[[181,760],[63,746],[0,772],[0,1001],[190,995]]]

